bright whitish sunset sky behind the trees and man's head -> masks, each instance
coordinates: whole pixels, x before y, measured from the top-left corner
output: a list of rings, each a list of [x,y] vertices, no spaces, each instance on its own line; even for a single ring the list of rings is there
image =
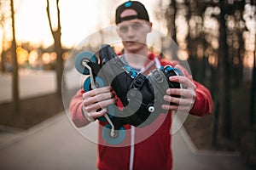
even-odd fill
[[[55,7],[55,0],[49,0],[50,7]],[[125,1],[119,0],[60,0],[61,32],[64,46],[72,47],[84,37],[104,27],[113,26],[111,20],[115,8]],[[152,8],[157,2],[142,0],[148,8],[150,19],[154,22]],[[9,3],[6,11],[9,12]],[[55,8],[52,8],[55,9]],[[15,28],[18,42],[43,43],[49,46],[53,42],[46,14],[46,0],[15,0]],[[56,11],[51,10],[52,20],[56,23]],[[6,26],[6,38],[11,39],[11,25]],[[55,26],[55,25],[54,25]],[[154,22],[154,28],[165,31],[159,22]],[[2,33],[0,34],[2,37]],[[2,38],[1,38],[2,39]]]

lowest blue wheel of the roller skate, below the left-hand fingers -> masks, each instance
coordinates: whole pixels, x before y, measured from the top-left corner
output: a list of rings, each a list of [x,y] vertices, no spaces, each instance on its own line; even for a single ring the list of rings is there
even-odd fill
[[[115,135],[111,136],[110,124],[105,125],[102,129],[102,136],[108,144],[120,144],[125,139],[125,127],[120,127],[119,130],[115,130]]]

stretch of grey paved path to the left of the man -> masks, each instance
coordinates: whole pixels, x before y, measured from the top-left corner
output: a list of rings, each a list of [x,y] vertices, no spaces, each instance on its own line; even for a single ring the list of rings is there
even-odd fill
[[[96,144],[84,139],[61,113],[2,144],[0,169],[96,169]]]

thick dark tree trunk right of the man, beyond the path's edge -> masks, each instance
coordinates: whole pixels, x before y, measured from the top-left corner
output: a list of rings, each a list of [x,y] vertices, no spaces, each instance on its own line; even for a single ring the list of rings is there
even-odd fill
[[[218,71],[219,71],[219,115],[221,116],[221,133],[224,138],[231,138],[231,111],[230,111],[230,66],[233,64],[232,57],[229,54],[229,51],[233,51],[233,48],[230,48],[227,44],[227,15],[235,14],[237,10],[242,10],[244,7],[243,1],[237,1],[233,3],[220,1],[219,8],[219,29],[220,29],[220,38],[219,38],[219,56],[218,56]]]

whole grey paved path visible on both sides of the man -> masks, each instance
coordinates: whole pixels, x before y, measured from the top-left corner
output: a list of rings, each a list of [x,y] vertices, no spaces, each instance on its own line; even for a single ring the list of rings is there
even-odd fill
[[[183,128],[172,140],[174,170],[247,169],[237,154],[198,152],[188,145]],[[26,132],[0,135],[0,169],[96,169],[96,144],[75,130],[65,113]]]

